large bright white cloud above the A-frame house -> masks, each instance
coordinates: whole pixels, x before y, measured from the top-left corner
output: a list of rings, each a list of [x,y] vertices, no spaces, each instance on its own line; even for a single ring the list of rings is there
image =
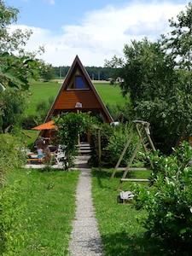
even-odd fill
[[[79,55],[84,66],[103,66],[105,59],[123,56],[124,45],[130,44],[131,39],[156,40],[161,33],[168,32],[168,19],[183,9],[182,4],[168,2],[108,6],[86,13],[79,26],[63,26],[60,36],[32,28],[34,32],[27,47],[34,50],[44,44],[43,58],[54,66],[71,66],[75,55]]]

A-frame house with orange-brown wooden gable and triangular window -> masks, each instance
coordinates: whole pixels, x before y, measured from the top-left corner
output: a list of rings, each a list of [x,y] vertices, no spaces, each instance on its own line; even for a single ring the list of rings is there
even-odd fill
[[[49,110],[44,123],[49,122],[52,116],[56,116],[61,112],[95,112],[104,123],[111,123],[113,119],[108,113],[108,109],[98,95],[94,84],[90,80],[89,74],[86,72],[79,56],[77,55],[73,61],[72,67],[69,69],[66,79],[61,85],[55,102]],[[48,130],[39,132],[41,137],[49,137]]]

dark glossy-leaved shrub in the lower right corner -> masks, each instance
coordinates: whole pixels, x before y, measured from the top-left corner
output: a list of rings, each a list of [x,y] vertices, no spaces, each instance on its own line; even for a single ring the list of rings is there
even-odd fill
[[[192,249],[191,158],[192,148],[186,142],[174,149],[171,156],[159,156],[156,152],[150,157],[154,165],[153,188],[136,184],[132,187],[136,208],[143,207],[148,212],[142,221],[148,230],[145,235],[159,238],[165,255],[189,255]]]

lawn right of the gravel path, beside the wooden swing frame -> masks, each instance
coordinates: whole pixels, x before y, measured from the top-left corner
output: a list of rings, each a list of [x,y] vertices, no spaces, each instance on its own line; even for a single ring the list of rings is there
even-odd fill
[[[142,236],[145,230],[137,223],[145,212],[137,212],[131,204],[117,202],[122,172],[110,180],[112,172],[92,170],[92,195],[106,256],[149,255],[150,244]],[[130,190],[130,185],[123,183],[123,189]]]

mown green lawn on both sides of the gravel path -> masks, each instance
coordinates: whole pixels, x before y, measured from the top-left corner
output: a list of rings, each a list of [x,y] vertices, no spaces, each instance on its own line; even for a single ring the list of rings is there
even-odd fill
[[[137,218],[145,213],[137,212],[131,203],[117,202],[122,172],[111,180],[112,172],[113,169],[92,169],[92,195],[105,255],[150,255],[150,244],[143,239],[145,230],[137,223]],[[69,255],[78,177],[78,171],[17,169],[8,173],[7,183],[20,181],[18,202],[26,205],[25,229],[20,230],[25,241],[20,256]],[[130,185],[123,183],[122,189],[130,190]]]

